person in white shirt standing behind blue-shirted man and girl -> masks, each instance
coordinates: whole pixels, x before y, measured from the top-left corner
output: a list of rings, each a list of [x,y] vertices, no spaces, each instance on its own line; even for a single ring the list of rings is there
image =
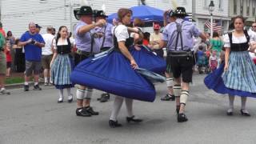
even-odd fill
[[[42,34],[43,40],[46,45],[42,47],[42,68],[43,75],[45,78],[45,86],[50,84],[50,62],[53,58],[52,42],[54,40],[54,35],[52,35],[52,26],[47,27],[47,33]]]

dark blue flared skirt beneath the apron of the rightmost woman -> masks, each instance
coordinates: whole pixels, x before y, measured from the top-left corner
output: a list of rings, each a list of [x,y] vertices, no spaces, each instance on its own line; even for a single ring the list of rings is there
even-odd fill
[[[250,93],[243,90],[234,90],[225,86],[222,74],[224,71],[224,64],[222,63],[217,70],[214,70],[212,73],[208,74],[204,79],[205,85],[208,89],[212,89],[218,94],[230,94],[238,95],[241,97],[253,97],[256,98],[256,93]]]

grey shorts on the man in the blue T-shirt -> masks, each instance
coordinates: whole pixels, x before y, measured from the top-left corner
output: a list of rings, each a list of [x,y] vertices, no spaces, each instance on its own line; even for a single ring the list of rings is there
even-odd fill
[[[25,74],[27,77],[32,75],[33,72],[34,72],[34,74],[40,74],[41,70],[42,70],[41,62],[26,60]]]

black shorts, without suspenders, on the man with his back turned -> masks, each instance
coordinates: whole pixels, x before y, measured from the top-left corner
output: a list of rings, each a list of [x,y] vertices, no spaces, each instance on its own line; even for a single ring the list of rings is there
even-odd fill
[[[182,76],[182,82],[192,82],[194,57],[193,56],[168,56],[174,78]]]

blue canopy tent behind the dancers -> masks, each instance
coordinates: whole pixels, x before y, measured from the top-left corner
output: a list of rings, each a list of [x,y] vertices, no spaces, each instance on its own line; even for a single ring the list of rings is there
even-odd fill
[[[144,22],[162,22],[163,21],[163,18],[162,18],[163,10],[159,10],[154,7],[144,6],[144,5],[131,7],[130,10],[133,11],[132,20],[134,20],[134,18],[140,18]],[[114,18],[118,18],[117,13],[110,14],[109,18],[107,18],[107,22],[112,23],[112,20]]]

